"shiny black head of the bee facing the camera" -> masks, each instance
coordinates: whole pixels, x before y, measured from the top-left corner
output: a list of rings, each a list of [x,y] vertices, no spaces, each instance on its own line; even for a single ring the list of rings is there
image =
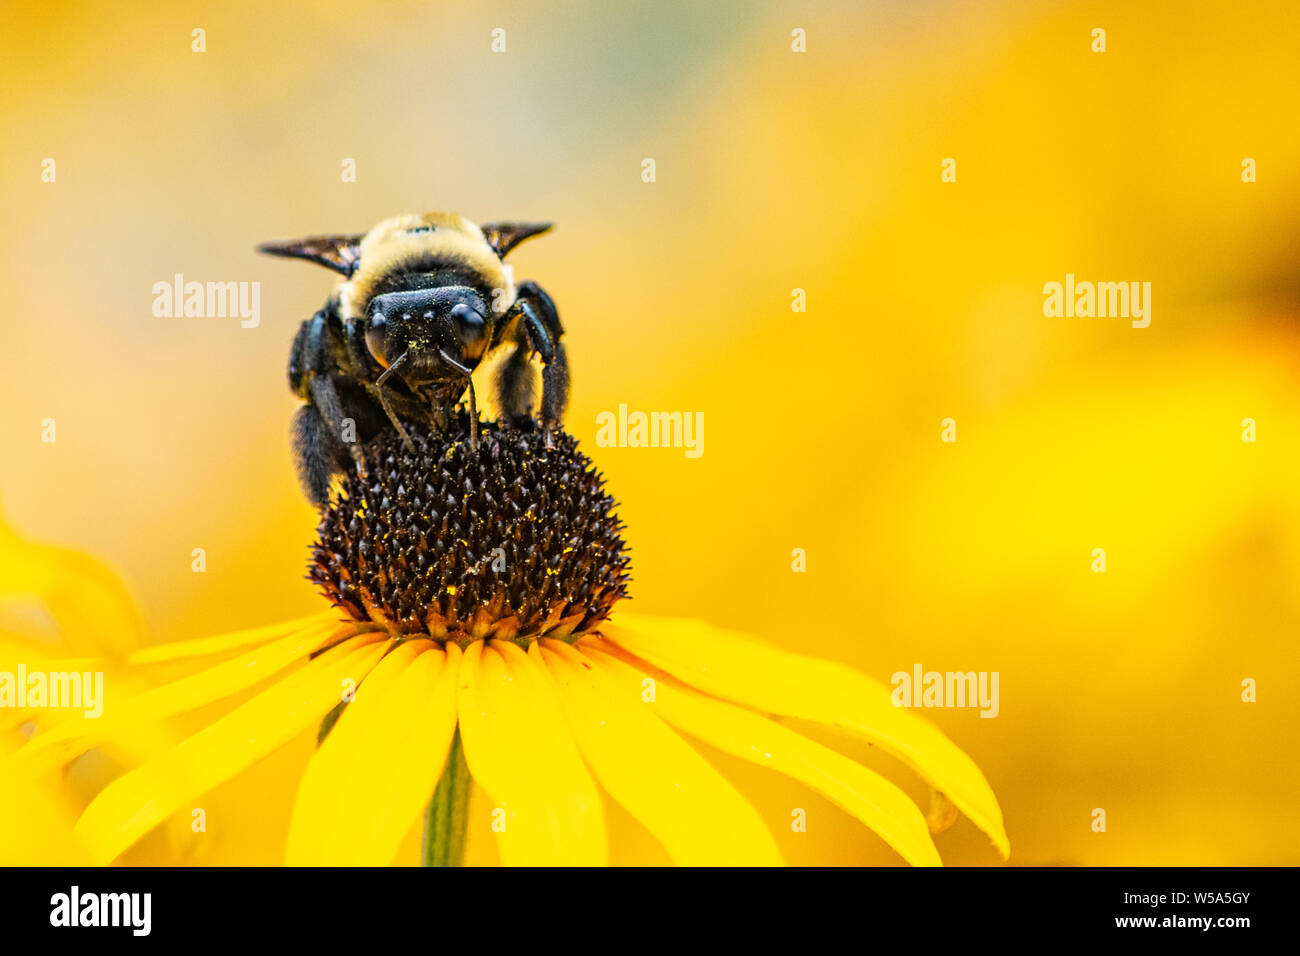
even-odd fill
[[[367,310],[365,347],[412,388],[460,378],[488,351],[490,315],[469,286],[384,293]]]

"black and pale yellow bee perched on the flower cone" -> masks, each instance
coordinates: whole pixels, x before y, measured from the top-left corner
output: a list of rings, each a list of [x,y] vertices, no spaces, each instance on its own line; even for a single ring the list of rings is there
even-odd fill
[[[329,499],[348,467],[365,471],[363,444],[391,425],[411,447],[403,421],[446,431],[469,390],[471,442],[478,414],[471,373],[499,347],[511,351],[495,376],[507,424],[532,427],[542,360],[540,418],[560,424],[568,403],[564,328],[536,282],[514,282],[503,263],[550,222],[474,225],[447,212],[385,220],[356,235],[266,242],[259,252],[306,259],[343,276],[325,306],[298,329],[289,388],[304,405],[292,444],[307,497]]]

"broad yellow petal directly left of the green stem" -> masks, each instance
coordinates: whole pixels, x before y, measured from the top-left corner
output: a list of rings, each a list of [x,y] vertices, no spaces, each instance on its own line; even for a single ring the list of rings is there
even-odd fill
[[[429,804],[456,730],[460,649],[407,641],[384,658],[312,757],[285,862],[386,866]]]

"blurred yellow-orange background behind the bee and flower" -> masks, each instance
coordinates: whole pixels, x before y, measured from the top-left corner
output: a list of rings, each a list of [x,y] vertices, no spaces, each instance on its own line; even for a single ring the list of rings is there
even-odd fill
[[[881,680],[998,671],[996,719],[926,713],[984,769],[1013,864],[1300,862],[1296,4],[0,17],[0,506],[116,566],[153,640],[320,606],[285,363],[332,276],[252,246],[419,209],[554,220],[511,260],[559,304],[638,610]],[[1149,281],[1150,326],[1045,317],[1067,272]],[[174,273],[260,282],[260,325],[155,317]],[[705,454],[597,447],[620,403],[702,411]],[[300,743],[213,795],[186,860],[278,861]],[[710,757],[789,861],[898,861]],[[809,832],[781,832],[793,806]],[[611,819],[616,862],[666,858]],[[937,842],[996,860],[966,821]]]

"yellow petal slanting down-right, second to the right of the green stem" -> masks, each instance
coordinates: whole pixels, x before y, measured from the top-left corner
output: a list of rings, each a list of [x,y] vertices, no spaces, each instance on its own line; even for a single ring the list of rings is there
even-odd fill
[[[536,648],[537,645],[534,645]],[[688,866],[780,865],[758,813],[708,761],[563,641],[540,656],[601,786]]]

